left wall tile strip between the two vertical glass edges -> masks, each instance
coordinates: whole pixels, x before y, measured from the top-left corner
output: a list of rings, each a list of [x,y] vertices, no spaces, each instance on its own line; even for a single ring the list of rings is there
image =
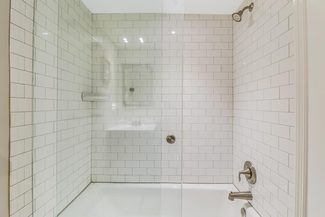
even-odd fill
[[[38,1],[34,19],[33,216],[56,213],[58,5]]]

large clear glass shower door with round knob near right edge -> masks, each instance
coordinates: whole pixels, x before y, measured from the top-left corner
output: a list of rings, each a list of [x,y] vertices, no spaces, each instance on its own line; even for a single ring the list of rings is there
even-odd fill
[[[182,1],[156,4],[36,1],[35,216],[181,216]]]

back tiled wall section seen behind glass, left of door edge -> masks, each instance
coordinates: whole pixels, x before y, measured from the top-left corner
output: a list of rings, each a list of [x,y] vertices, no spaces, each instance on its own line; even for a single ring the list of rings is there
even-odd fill
[[[93,15],[93,92],[110,101],[93,103],[92,181],[181,181],[181,139],[161,138],[181,138],[182,25],[179,14]]]

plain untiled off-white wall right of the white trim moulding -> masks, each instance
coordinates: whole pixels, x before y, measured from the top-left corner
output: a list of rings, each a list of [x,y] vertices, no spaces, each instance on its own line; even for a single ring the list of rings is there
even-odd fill
[[[308,46],[308,199],[307,216],[323,213],[325,180],[325,10],[323,1],[306,1]]]

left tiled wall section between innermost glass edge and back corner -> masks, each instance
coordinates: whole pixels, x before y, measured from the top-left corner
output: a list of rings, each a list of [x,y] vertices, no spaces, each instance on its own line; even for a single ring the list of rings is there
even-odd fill
[[[61,212],[90,183],[91,12],[79,0],[59,1],[57,66],[56,211]],[[56,91],[54,91],[56,94]]]

